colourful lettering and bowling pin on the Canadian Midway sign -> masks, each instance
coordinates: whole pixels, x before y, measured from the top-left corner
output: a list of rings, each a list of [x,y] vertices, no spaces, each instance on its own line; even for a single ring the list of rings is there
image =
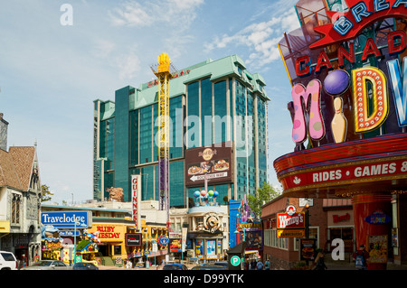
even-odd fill
[[[337,42],[353,40],[368,24],[388,17],[407,16],[407,0],[345,0],[345,3],[349,7],[345,13],[327,11],[332,23],[314,28],[325,37],[309,48],[322,48]],[[348,130],[355,135],[373,131],[383,125],[389,115],[390,92],[393,95],[398,125],[400,127],[407,125],[407,57],[402,59],[402,65],[398,59],[387,61],[385,72],[389,79],[383,70],[370,66],[352,70],[349,75],[342,69],[346,61],[349,64],[356,62],[355,44],[348,42],[348,49],[341,45],[336,46],[333,50],[336,51],[336,58],[332,58],[334,52],[331,52],[329,55],[332,59],[329,59],[327,52],[322,50],[315,63],[311,63],[309,55],[300,56],[295,60],[298,78],[308,77],[311,73],[319,77],[323,70],[328,73],[325,79],[311,79],[306,85],[298,83],[292,87],[292,140],[296,144],[302,144],[308,138],[320,141],[329,131],[335,143],[342,143],[346,140]],[[395,57],[405,51],[406,47],[405,31],[396,30],[387,34],[388,55]],[[361,51],[360,61],[387,56],[387,53],[383,54],[382,49],[383,47],[377,47],[373,38],[368,38]],[[337,61],[337,65],[334,65],[333,61]],[[383,69],[383,66],[381,67]],[[322,110],[324,100],[322,97],[326,96],[333,100],[332,117],[328,115],[324,117],[323,114],[330,110],[330,107],[324,107],[325,110]],[[347,102],[344,101],[344,97],[347,97]],[[347,110],[352,109],[352,116],[347,115],[347,119],[344,106]]]

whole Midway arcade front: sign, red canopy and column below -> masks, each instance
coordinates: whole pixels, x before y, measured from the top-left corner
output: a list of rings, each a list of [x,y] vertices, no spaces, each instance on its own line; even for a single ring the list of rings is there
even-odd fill
[[[374,255],[369,270],[383,270],[407,260],[407,243],[390,241],[406,233],[406,7],[363,0],[334,17],[334,4],[310,3],[297,3],[302,27],[279,42],[295,147],[274,168],[286,197],[351,200],[355,246]],[[350,240],[350,228],[330,224]]]

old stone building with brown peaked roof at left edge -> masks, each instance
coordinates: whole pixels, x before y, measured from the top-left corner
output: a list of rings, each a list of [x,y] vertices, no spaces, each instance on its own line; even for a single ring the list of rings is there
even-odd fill
[[[41,182],[36,144],[10,147],[0,115],[0,250],[11,251],[28,264],[41,255]]]

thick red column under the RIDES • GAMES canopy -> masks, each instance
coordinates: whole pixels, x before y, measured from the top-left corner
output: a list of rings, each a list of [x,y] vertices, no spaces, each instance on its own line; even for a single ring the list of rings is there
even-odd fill
[[[371,236],[387,236],[387,244],[385,249],[388,254],[389,235],[391,231],[392,221],[389,217],[392,215],[392,207],[390,200],[392,196],[385,194],[362,194],[355,195],[352,198],[355,217],[355,234],[356,234],[356,248],[360,245],[364,245],[369,253],[372,249],[377,249],[377,246],[369,246],[368,237]],[[383,218],[377,218],[377,221],[371,220],[370,216],[375,212],[383,212]],[[374,222],[374,223],[369,223]],[[371,261],[378,259],[372,255]],[[368,261],[368,270],[385,270],[387,257],[385,257],[385,263],[370,263]]]

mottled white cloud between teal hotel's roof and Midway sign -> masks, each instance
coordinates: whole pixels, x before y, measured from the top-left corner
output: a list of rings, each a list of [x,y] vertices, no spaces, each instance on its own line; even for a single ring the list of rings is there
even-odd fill
[[[213,42],[206,43],[204,47],[206,51],[212,51],[213,49],[226,48],[228,45],[247,46],[250,54],[246,63],[252,64],[254,68],[260,68],[279,59],[277,43],[282,34],[298,27],[297,14],[294,8],[291,8],[289,11],[274,16],[268,21],[251,23],[233,35],[215,36]]]

